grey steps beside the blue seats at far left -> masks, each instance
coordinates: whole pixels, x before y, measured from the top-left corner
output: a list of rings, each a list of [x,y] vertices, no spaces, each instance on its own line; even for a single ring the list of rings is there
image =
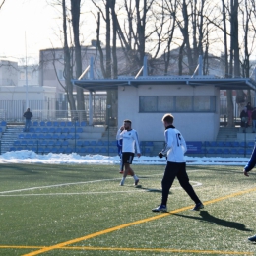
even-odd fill
[[[10,150],[14,141],[19,137],[20,133],[23,133],[24,124],[22,125],[7,125],[5,132],[1,139],[1,154],[4,154]]]

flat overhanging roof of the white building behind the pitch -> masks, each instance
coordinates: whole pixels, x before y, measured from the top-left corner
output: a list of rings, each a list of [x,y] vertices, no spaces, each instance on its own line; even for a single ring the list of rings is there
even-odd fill
[[[256,90],[256,81],[250,78],[215,78],[212,76],[175,76],[175,77],[121,77],[118,79],[85,79],[72,80],[72,83],[80,88],[88,91],[105,91],[117,89],[118,87],[139,87],[147,85],[190,85],[198,86],[214,86],[220,90]]]

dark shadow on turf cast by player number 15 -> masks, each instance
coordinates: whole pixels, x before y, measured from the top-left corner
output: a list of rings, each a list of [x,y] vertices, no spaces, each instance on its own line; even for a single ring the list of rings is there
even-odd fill
[[[210,224],[218,224],[218,225],[222,225],[225,227],[229,227],[229,228],[234,228],[240,231],[252,231],[251,229],[247,229],[246,226],[244,224],[240,224],[240,223],[235,223],[235,222],[229,222],[229,221],[225,221],[224,219],[219,219],[217,217],[214,217],[212,215],[210,215],[207,211],[200,211],[199,215],[201,217],[196,217],[196,216],[187,216],[187,215],[180,215],[180,214],[173,214],[176,216],[180,216],[180,217],[185,217],[188,219],[194,219],[194,220],[198,220],[201,222],[207,222]]]

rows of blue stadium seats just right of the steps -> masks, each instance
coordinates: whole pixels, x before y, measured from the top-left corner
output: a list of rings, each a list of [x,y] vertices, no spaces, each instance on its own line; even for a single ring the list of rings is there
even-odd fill
[[[18,135],[10,151],[32,150],[38,154],[78,153],[80,155],[116,155],[116,140],[85,140],[86,122],[32,122],[29,132]],[[150,156],[153,142],[142,143],[142,152]]]

